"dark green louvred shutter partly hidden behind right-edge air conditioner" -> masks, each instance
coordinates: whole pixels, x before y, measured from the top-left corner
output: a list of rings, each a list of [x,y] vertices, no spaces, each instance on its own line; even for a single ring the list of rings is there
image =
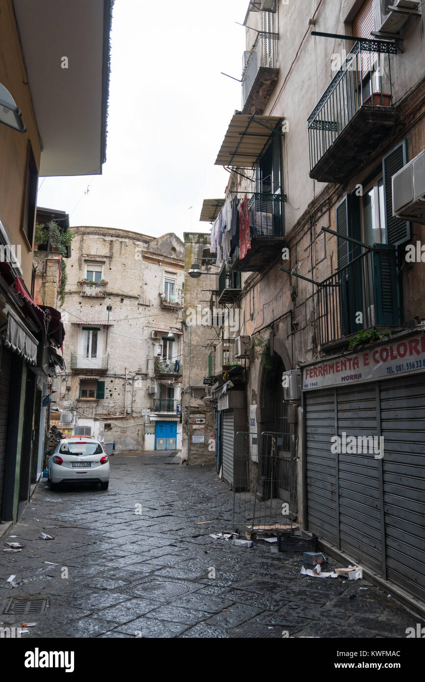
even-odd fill
[[[387,226],[388,243],[394,244],[394,246],[398,246],[410,239],[409,221],[394,218],[392,214],[392,177],[406,164],[407,140],[403,140],[400,145],[390,151],[382,160],[385,224]]]

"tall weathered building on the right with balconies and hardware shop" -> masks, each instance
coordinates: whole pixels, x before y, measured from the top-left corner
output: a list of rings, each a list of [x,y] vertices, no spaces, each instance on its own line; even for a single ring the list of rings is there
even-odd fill
[[[242,108],[216,160],[231,177],[221,216],[203,211],[242,337],[223,327],[211,389],[223,476],[235,486],[245,454],[254,490],[272,458],[272,496],[305,531],[425,602],[424,16],[271,5],[249,4]],[[245,453],[220,397],[232,372]]]

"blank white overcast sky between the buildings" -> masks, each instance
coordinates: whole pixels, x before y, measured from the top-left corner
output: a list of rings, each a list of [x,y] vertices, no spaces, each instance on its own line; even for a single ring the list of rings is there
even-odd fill
[[[220,72],[241,77],[245,29],[235,22],[247,8],[115,0],[103,173],[40,178],[38,205],[67,211],[71,226],[209,231],[203,199],[224,196],[229,174],[214,162],[241,108],[241,84]]]

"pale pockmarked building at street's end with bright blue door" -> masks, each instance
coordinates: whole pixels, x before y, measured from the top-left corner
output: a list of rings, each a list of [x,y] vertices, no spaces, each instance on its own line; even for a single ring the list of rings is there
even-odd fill
[[[117,451],[179,449],[183,243],[172,233],[72,232],[60,309],[66,370],[55,394],[61,428]]]

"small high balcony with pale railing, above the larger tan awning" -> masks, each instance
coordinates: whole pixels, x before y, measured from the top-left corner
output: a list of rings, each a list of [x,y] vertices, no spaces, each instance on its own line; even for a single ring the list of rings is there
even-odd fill
[[[279,78],[278,33],[259,33],[242,74],[242,113],[262,114]]]

